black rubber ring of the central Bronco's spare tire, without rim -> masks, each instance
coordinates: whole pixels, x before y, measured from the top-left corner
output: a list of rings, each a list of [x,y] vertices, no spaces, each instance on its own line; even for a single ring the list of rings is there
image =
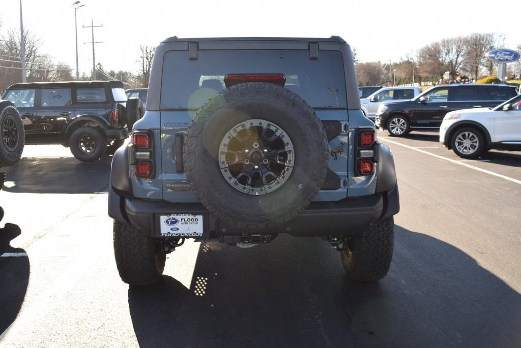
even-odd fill
[[[233,188],[217,161],[227,132],[254,119],[280,126],[295,155],[287,181],[259,196]],[[328,156],[324,127],[311,106],[289,89],[258,82],[234,85],[210,98],[195,114],[183,147],[184,172],[199,201],[221,220],[242,227],[278,225],[305,209],[324,185]]]

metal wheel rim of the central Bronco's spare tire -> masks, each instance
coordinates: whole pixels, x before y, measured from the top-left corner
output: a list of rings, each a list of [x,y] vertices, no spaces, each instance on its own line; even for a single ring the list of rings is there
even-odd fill
[[[255,119],[238,123],[225,134],[218,159],[231,187],[247,195],[265,195],[286,183],[295,151],[281,127]]]

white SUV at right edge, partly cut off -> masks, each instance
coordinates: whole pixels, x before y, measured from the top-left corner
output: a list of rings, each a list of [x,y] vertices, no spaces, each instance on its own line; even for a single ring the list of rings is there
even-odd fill
[[[449,112],[440,127],[440,142],[463,158],[490,149],[521,150],[521,95],[497,107]]]

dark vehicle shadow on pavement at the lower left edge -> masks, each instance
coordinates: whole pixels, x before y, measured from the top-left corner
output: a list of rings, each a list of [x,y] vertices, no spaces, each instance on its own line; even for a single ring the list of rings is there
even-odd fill
[[[21,234],[20,227],[5,224],[0,228],[0,255],[25,253],[10,246],[10,241]],[[27,256],[0,257],[0,335],[15,321],[29,283],[29,258]]]

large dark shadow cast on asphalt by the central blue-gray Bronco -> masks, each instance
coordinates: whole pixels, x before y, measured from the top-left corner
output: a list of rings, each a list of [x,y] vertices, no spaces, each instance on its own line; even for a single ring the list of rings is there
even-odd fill
[[[163,276],[129,287],[128,297],[143,347],[521,342],[519,293],[461,250],[398,226],[379,282],[346,279],[338,253],[318,238],[282,236],[250,249],[202,243],[190,289]]]

